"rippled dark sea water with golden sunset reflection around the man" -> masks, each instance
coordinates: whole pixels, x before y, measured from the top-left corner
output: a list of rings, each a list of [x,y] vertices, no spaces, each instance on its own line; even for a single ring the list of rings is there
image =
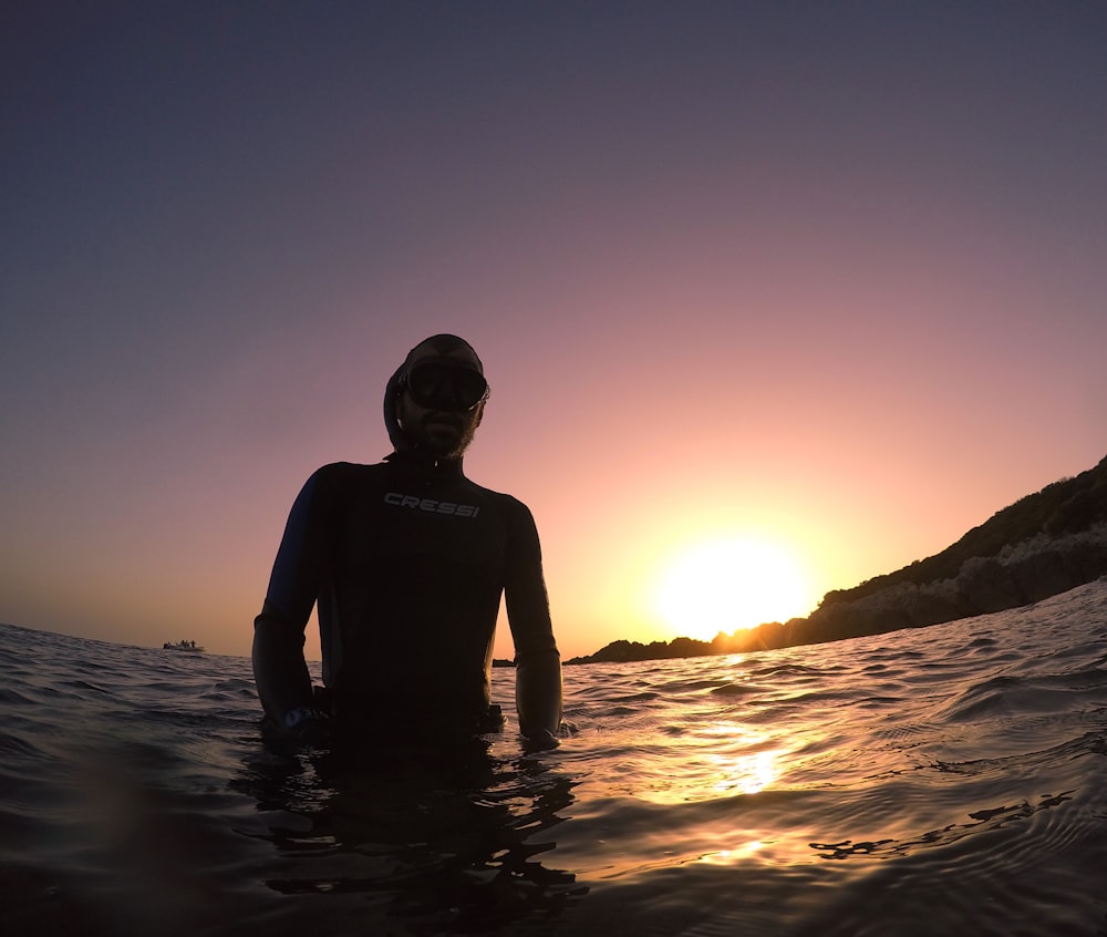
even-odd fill
[[[0,675],[3,934],[1107,934],[1107,580],[568,667],[534,755],[269,751],[244,658],[0,626]]]

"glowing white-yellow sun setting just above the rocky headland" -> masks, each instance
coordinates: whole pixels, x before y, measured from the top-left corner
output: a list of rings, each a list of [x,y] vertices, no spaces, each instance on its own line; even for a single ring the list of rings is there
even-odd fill
[[[680,553],[662,572],[653,607],[674,636],[711,640],[807,615],[811,586],[793,554],[758,537],[717,537]]]

